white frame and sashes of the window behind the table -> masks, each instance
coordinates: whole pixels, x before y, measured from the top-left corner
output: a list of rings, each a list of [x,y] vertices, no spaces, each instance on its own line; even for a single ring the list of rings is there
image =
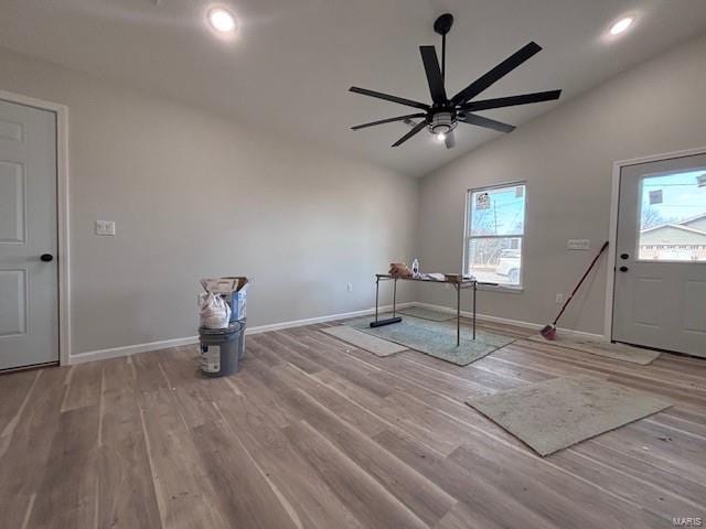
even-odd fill
[[[522,235],[511,235],[511,236],[506,236],[506,235],[471,235],[472,233],[472,219],[471,219],[471,208],[472,208],[472,196],[473,193],[482,193],[484,191],[492,191],[492,190],[499,190],[499,188],[503,188],[503,187],[513,187],[513,186],[518,186],[522,185],[524,186],[524,201],[525,201],[525,207],[524,207],[524,216],[522,219]],[[525,238],[526,238],[526,234],[527,234],[527,207],[528,207],[528,201],[527,201],[527,181],[526,180],[516,180],[516,181],[511,181],[511,182],[503,182],[500,184],[491,184],[491,185],[483,185],[483,186],[479,186],[479,187],[469,187],[468,190],[466,190],[466,207],[464,207],[464,214],[463,214],[463,262],[462,262],[462,267],[463,267],[463,273],[468,273],[468,264],[469,264],[469,259],[470,259],[470,241],[471,239],[506,239],[506,238],[518,238],[521,239],[521,244],[520,244],[520,284],[482,284],[479,283],[478,289],[479,290],[490,290],[490,291],[501,291],[501,292],[510,292],[510,293],[521,293],[524,288],[525,288],[525,283],[524,283],[524,277],[525,277],[525,267],[524,267],[524,259],[525,259]]]

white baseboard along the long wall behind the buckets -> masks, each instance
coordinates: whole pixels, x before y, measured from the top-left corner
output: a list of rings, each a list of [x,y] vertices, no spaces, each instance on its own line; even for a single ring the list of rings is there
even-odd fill
[[[415,302],[397,303],[397,309],[414,305]],[[392,310],[393,305],[383,305],[381,312]],[[245,334],[267,333],[268,331],[278,331],[280,328],[302,327],[304,325],[313,325],[314,323],[331,322],[333,320],[343,320],[345,317],[365,316],[373,314],[375,309],[364,309],[362,311],[344,312],[341,314],[329,314],[327,316],[308,317],[306,320],[292,320],[290,322],[270,323],[267,325],[258,325],[256,327],[247,327]],[[108,358],[118,358],[120,356],[129,356],[138,353],[147,353],[148,350],[169,349],[170,347],[181,347],[184,345],[193,345],[199,343],[199,336],[186,336],[184,338],[162,339],[159,342],[150,342],[147,344],[126,345],[122,347],[111,347],[108,349],[89,350],[79,353],[68,357],[68,364],[83,364],[85,361],[106,360]]]

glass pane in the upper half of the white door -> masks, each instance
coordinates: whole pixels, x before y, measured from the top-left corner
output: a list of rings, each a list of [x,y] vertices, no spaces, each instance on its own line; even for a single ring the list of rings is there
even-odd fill
[[[706,261],[706,168],[640,183],[638,258]]]

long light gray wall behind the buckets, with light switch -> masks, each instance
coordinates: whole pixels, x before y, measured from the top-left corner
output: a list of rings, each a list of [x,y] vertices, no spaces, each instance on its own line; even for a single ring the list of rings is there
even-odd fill
[[[69,109],[73,354],[193,336],[203,277],[254,278],[249,326],[368,309],[413,255],[413,179],[1,48],[0,71]]]

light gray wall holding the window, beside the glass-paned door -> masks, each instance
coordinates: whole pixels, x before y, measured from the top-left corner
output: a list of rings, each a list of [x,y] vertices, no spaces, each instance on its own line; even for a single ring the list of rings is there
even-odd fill
[[[567,251],[567,239],[590,239],[593,250],[608,239],[613,161],[706,145],[705,95],[706,39],[699,37],[426,176],[422,268],[460,270],[468,188],[526,180],[524,292],[482,292],[479,312],[533,323],[553,320],[556,293],[569,292],[592,257]],[[563,326],[602,334],[606,269],[603,261]],[[453,303],[451,292],[431,287],[420,289],[420,301]]]

